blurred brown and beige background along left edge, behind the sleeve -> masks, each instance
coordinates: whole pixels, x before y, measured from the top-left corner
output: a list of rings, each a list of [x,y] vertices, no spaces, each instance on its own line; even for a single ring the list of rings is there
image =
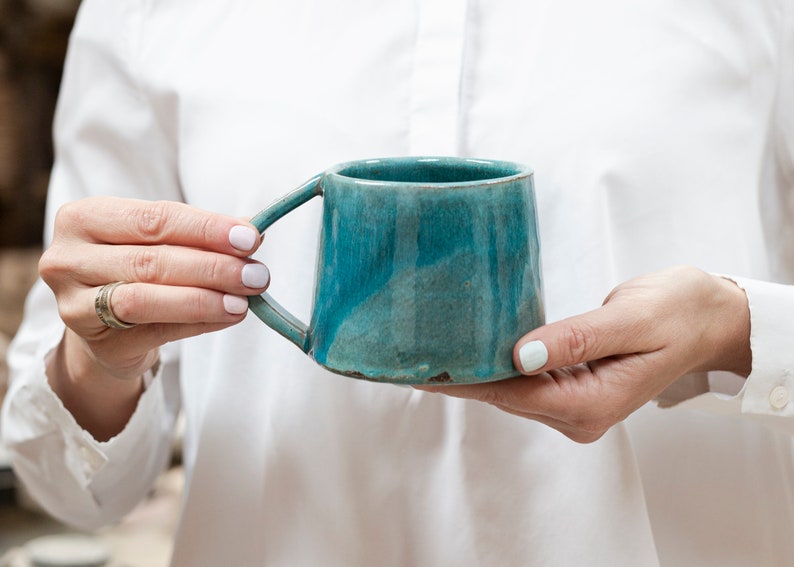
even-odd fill
[[[0,400],[8,343],[37,275],[52,118],[78,7],[79,0],[0,0]],[[59,561],[46,563],[53,567],[167,565],[181,487],[175,449],[174,467],[128,518],[96,534],[78,534],[30,501],[0,446],[0,567],[39,564],[35,555],[43,545],[55,555],[48,561]],[[81,550],[93,552],[94,562],[77,563]]]

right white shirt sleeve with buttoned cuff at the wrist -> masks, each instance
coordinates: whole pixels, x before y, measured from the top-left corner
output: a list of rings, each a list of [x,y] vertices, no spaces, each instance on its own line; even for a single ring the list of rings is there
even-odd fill
[[[778,92],[770,120],[771,162],[762,196],[770,266],[781,281],[794,278],[794,5],[783,7],[778,46]],[[794,435],[794,285],[727,276],[741,287],[750,307],[752,370],[740,388],[706,374],[681,378],[657,403],[740,415]],[[738,390],[738,392],[736,391]]]

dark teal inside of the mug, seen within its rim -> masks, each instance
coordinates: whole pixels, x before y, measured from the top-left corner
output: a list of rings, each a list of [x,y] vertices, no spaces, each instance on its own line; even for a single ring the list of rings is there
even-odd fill
[[[480,183],[528,173],[526,167],[504,161],[467,158],[387,158],[343,164],[337,175],[384,183]]]

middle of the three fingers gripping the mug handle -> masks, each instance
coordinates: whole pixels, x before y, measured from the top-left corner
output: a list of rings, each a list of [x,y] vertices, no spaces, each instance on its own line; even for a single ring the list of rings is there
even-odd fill
[[[71,258],[80,257],[79,263]],[[204,287],[238,295],[254,295],[270,283],[260,262],[180,246],[82,244],[70,254],[53,254],[40,267],[45,281],[52,273],[87,286],[112,281]]]

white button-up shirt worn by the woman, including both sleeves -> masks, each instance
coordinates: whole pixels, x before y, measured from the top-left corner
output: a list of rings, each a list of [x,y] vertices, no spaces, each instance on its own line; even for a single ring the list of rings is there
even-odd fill
[[[2,422],[20,478],[59,518],[113,521],[181,409],[178,566],[792,564],[793,22],[785,0],[85,0],[50,221],[108,194],[252,216],[359,158],[515,160],[536,171],[549,320],[673,264],[734,274],[753,372],[685,377],[660,399],[675,409],[578,445],[331,375],[248,317],[169,345],[97,443],[46,384],[63,325],[39,283]],[[318,207],[257,256],[304,320]]]

